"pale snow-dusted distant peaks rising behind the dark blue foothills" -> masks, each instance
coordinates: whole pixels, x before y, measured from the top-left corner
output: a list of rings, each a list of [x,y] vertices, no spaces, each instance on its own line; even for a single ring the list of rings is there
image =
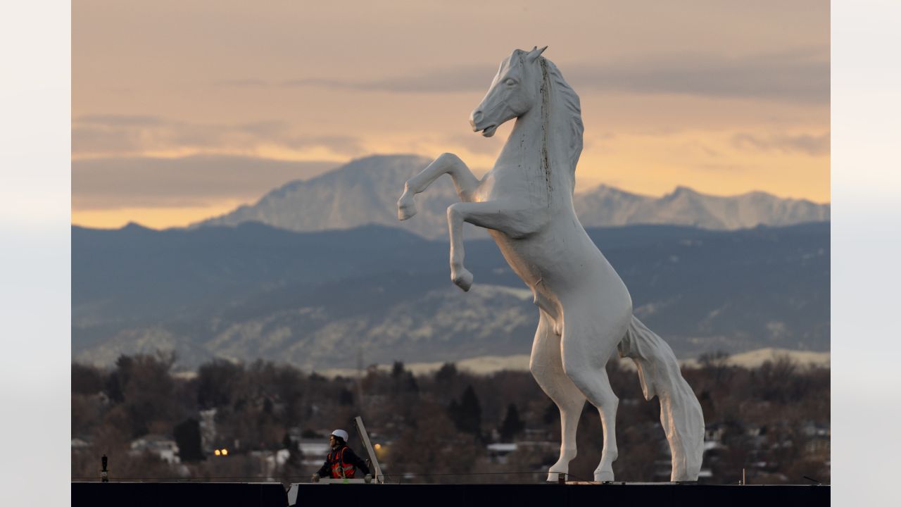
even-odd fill
[[[296,180],[268,192],[253,205],[214,217],[198,226],[236,226],[259,222],[296,232],[349,229],[370,224],[403,228],[429,239],[446,239],[446,209],[458,198],[449,177],[441,177],[417,196],[418,214],[399,222],[396,200],[409,180],[431,160],[415,155],[362,158],[311,180]],[[678,187],[660,197],[642,196],[602,185],[579,192],[574,205],[583,226],[670,224],[715,230],[790,226],[828,221],[828,204],[778,198],[764,192],[733,197],[705,195]],[[484,233],[470,237],[487,237]]]

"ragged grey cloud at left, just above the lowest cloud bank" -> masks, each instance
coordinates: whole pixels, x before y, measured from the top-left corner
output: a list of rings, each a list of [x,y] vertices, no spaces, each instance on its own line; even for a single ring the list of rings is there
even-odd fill
[[[75,155],[125,156],[186,149],[252,152],[262,144],[288,150],[324,147],[348,157],[364,151],[358,138],[297,135],[290,124],[278,121],[192,124],[158,116],[91,115],[77,117],[72,126]]]

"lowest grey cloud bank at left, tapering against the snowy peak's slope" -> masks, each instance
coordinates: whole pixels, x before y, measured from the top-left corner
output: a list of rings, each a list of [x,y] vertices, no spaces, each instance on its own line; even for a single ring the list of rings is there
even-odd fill
[[[250,200],[337,165],[226,155],[77,160],[72,162],[72,207],[195,207],[226,199]]]

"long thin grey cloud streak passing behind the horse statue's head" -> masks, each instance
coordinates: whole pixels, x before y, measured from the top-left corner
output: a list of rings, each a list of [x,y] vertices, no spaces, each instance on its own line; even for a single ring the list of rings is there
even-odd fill
[[[679,52],[605,64],[569,64],[560,70],[577,91],[829,103],[828,48],[743,56]],[[398,78],[305,78],[284,84],[390,93],[461,93],[487,90],[495,72],[487,66],[465,66]]]

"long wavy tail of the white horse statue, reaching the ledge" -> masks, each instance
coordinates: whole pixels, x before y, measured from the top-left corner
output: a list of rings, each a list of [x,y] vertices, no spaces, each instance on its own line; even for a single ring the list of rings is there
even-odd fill
[[[660,424],[672,456],[670,481],[696,481],[704,456],[704,413],[695,392],[682,378],[676,355],[660,336],[632,317],[619,346],[620,357],[638,367],[644,399],[660,399]]]

